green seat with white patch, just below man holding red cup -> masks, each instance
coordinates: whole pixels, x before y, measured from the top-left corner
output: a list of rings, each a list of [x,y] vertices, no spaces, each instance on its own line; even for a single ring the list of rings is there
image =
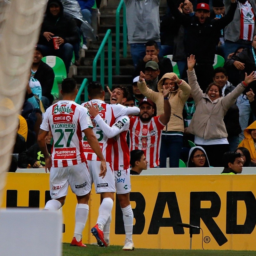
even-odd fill
[[[67,71],[63,60],[57,56],[45,56],[42,58],[46,64],[48,64],[55,74],[55,79],[58,84],[61,84],[63,79],[67,78]]]

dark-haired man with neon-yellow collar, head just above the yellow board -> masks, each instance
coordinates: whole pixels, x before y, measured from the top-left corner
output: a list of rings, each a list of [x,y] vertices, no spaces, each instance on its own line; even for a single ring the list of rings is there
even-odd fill
[[[237,174],[243,171],[244,160],[240,153],[228,151],[222,159],[224,170],[220,174]]]

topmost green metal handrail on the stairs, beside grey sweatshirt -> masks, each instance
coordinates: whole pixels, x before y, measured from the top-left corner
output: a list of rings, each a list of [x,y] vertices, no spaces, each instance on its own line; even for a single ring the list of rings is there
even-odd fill
[[[127,24],[124,0],[121,0],[116,9],[116,75],[120,75],[120,11],[123,7],[123,56],[127,57]]]

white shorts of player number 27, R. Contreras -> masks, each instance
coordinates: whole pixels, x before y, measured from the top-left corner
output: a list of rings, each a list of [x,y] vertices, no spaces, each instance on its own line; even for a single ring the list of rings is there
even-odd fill
[[[51,167],[50,193],[52,199],[66,196],[68,184],[76,196],[84,196],[91,191],[92,183],[86,163],[67,167]]]

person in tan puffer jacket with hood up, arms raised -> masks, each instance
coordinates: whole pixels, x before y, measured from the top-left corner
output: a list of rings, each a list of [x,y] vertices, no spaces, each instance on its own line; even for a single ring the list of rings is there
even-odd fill
[[[165,88],[171,87],[168,100],[172,107],[172,113],[170,121],[162,133],[159,166],[160,168],[166,167],[166,159],[169,157],[170,167],[179,167],[184,133],[182,111],[190,95],[191,88],[184,80],[180,80],[175,73],[166,73],[157,84],[158,92],[154,92],[147,87],[144,78],[145,75],[141,71],[138,87],[143,95],[155,102],[157,116],[164,113],[163,85]]]

